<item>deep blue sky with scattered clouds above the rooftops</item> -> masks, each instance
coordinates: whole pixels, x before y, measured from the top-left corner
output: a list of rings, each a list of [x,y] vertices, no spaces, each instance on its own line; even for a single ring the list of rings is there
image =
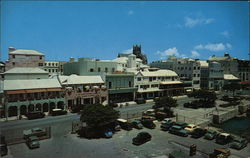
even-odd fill
[[[248,59],[248,2],[1,1],[1,60],[8,47],[46,60],[114,59],[140,44],[149,61],[168,55]]]

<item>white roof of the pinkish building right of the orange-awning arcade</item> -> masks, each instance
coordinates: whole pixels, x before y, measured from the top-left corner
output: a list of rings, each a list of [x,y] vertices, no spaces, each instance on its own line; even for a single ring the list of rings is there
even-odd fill
[[[59,80],[63,85],[104,83],[101,76],[59,76]]]

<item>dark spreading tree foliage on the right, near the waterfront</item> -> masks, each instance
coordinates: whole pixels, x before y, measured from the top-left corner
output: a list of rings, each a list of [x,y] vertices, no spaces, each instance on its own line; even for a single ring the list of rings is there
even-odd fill
[[[217,99],[215,92],[208,90],[195,90],[188,97],[200,98],[203,101],[215,101]]]

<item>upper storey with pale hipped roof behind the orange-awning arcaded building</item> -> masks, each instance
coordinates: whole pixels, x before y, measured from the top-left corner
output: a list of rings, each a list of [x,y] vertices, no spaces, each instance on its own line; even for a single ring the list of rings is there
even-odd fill
[[[6,80],[48,79],[48,72],[38,67],[15,67],[4,73]]]

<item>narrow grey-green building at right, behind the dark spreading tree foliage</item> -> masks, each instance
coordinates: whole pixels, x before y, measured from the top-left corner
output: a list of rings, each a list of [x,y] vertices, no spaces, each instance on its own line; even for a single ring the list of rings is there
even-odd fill
[[[219,62],[209,61],[209,89],[221,90],[224,81],[223,67]]]

